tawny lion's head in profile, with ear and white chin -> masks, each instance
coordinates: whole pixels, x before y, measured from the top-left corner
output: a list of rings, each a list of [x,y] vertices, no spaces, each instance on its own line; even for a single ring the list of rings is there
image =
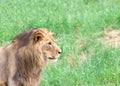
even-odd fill
[[[34,32],[34,43],[38,51],[42,51],[44,59],[57,60],[61,49],[57,46],[52,33],[47,29],[36,29]]]

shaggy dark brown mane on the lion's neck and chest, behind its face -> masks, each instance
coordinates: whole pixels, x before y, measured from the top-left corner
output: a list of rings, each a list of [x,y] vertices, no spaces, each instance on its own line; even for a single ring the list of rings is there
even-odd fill
[[[33,43],[29,41],[32,33],[33,30],[28,30],[14,38],[14,40],[18,40],[20,43],[15,54],[17,70],[14,80],[20,83],[30,82],[32,79],[38,80],[44,64],[44,61],[41,59],[41,52],[37,51]]]

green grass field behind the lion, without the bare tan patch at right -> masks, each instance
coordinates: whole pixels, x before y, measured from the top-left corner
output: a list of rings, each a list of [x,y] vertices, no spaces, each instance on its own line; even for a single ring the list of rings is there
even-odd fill
[[[119,0],[0,0],[1,45],[33,27],[58,39],[61,58],[43,68],[40,86],[119,86],[120,48],[98,41],[109,25],[120,28]]]

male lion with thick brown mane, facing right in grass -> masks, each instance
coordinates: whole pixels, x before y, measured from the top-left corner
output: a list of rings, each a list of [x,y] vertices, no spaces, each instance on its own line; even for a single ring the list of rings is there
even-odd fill
[[[61,49],[47,29],[34,28],[0,47],[0,86],[38,86],[42,67]]]

